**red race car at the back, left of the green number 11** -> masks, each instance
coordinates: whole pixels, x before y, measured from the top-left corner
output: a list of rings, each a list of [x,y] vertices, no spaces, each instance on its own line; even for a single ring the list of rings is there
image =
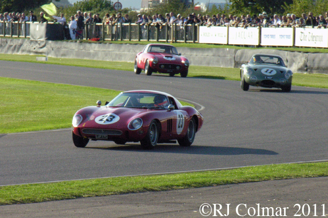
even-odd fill
[[[148,44],[142,52],[135,56],[134,73],[140,74],[141,70],[150,76],[153,72],[169,74],[173,77],[180,74],[187,77],[189,60],[178,54],[176,48],[165,44]]]

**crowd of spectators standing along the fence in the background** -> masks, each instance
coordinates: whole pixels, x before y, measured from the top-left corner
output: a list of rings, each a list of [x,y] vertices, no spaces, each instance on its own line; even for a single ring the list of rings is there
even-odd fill
[[[62,13],[60,17],[53,16],[56,22],[63,24],[66,28],[66,39],[82,39],[82,30],[85,24],[97,24],[104,23],[109,25],[114,24],[123,24],[123,23],[135,23],[139,24],[142,28],[142,34],[145,34],[145,29],[147,25],[153,24],[155,27],[162,28],[165,24],[170,27],[173,24],[183,28],[185,25],[195,24],[198,26],[220,26],[220,27],[317,27],[317,28],[326,28],[328,25],[328,11],[326,15],[313,16],[312,12],[309,12],[307,15],[305,13],[301,14],[301,17],[296,17],[295,14],[286,14],[286,15],[271,15],[269,16],[265,11],[259,15],[250,14],[235,16],[230,14],[214,14],[210,15],[201,15],[196,13],[189,14],[187,17],[183,17],[180,14],[175,15],[173,12],[166,13],[164,16],[162,14],[145,15],[138,14],[137,20],[131,21],[129,14],[124,16],[121,13],[110,15],[107,13],[102,19],[99,17],[99,14],[92,14],[81,11],[70,17],[70,21],[66,22],[66,18]],[[30,16],[25,15],[25,13],[3,13],[0,14],[0,21],[4,22],[39,22],[45,23],[48,22],[49,18],[44,17],[44,13],[40,12],[39,17],[37,18],[33,11],[30,11]],[[110,32],[109,27],[107,27],[107,32]],[[113,29],[112,31],[115,31]],[[99,27],[95,27],[94,33],[96,37],[99,37],[100,30]]]

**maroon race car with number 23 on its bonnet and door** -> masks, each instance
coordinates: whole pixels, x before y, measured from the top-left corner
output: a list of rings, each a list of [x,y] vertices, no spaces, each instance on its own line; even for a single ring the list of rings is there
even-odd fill
[[[157,143],[190,146],[203,124],[202,115],[193,107],[182,106],[164,92],[135,90],[120,93],[101,106],[78,110],[72,121],[76,147],[89,140],[108,140],[116,144],[140,141],[145,149]]]

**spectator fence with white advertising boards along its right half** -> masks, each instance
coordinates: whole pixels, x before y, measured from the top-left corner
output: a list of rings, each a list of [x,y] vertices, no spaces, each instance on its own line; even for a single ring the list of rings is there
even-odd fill
[[[31,22],[0,21],[0,36],[30,38]],[[64,34],[64,32],[63,32]],[[83,39],[328,48],[328,28],[206,27],[177,24],[86,24]]]

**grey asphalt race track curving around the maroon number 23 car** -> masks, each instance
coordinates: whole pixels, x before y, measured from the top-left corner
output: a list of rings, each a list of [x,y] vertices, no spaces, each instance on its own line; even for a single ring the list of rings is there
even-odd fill
[[[205,107],[191,147],[164,144],[146,151],[138,144],[92,141],[76,148],[68,129],[0,135],[1,186],[328,159],[327,89],[244,92],[236,81],[10,61],[0,66],[0,77],[159,90]]]

